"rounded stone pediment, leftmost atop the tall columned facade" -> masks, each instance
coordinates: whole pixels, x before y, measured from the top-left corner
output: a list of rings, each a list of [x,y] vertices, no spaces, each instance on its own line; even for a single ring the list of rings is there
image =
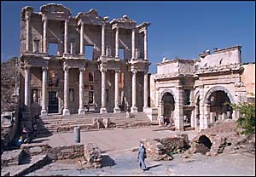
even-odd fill
[[[42,14],[63,14],[65,16],[71,15],[71,10],[61,4],[48,3],[41,6],[40,11]]]

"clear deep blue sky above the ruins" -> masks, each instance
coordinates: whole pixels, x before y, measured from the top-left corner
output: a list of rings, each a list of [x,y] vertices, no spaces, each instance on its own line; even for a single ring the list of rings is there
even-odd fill
[[[137,24],[148,21],[149,71],[163,57],[195,59],[206,49],[241,45],[242,62],[255,61],[255,2],[1,2],[1,61],[20,55],[20,10],[61,3],[79,12],[97,9],[109,20],[127,14]]]

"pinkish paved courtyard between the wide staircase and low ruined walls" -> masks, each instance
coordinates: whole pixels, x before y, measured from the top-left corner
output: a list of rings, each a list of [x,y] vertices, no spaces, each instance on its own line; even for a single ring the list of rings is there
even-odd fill
[[[139,141],[145,138],[161,138],[169,137],[180,131],[160,130],[163,128],[117,128],[117,129],[101,129],[97,131],[81,131],[81,143],[96,143],[102,151],[116,151],[131,149],[139,146]],[[165,129],[165,128],[164,128]],[[196,131],[185,131],[182,133],[189,134],[189,140],[195,137]],[[59,133],[53,134],[49,137],[38,138],[32,142],[46,142],[49,146],[70,145],[74,143],[73,133]]]

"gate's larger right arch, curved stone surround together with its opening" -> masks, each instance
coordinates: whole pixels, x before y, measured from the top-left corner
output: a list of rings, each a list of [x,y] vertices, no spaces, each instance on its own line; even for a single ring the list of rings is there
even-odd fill
[[[205,97],[205,107],[209,123],[232,118],[233,109],[226,103],[233,103],[230,91],[224,87],[211,88]]]

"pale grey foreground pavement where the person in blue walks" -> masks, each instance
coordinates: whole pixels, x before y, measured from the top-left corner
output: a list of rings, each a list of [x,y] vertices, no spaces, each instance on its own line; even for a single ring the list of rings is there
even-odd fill
[[[241,154],[221,154],[206,157],[195,154],[191,159],[183,159],[180,154],[173,155],[172,161],[152,161],[146,159],[149,168],[143,172],[138,168],[137,152],[109,151],[102,154],[102,168],[81,170],[78,164],[51,163],[27,176],[69,175],[69,176],[114,176],[114,175],[223,175],[254,176],[255,157]]]

